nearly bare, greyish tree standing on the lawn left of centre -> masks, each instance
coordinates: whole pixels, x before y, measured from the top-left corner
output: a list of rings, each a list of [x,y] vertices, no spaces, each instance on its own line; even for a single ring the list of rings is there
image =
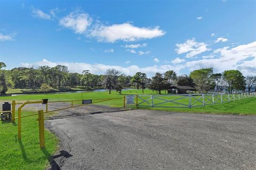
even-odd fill
[[[108,69],[105,73],[105,78],[103,80],[103,86],[109,89],[109,94],[111,94],[111,88],[115,88],[117,84],[118,75],[121,74],[116,69]]]

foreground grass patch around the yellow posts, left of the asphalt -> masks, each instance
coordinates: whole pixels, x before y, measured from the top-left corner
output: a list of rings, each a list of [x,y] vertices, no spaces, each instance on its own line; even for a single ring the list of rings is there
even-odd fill
[[[24,112],[22,115],[34,114]],[[24,117],[21,123],[21,140],[18,140],[18,125],[0,122],[1,169],[45,169],[49,158],[57,151],[58,139],[45,131],[45,149],[39,147],[37,116]],[[18,122],[18,121],[16,121]]]

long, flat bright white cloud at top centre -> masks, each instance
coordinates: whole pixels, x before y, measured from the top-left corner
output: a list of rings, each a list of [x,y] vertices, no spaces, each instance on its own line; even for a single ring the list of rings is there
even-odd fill
[[[165,32],[159,27],[139,28],[130,23],[113,25],[95,25],[90,35],[98,38],[99,41],[115,43],[115,41],[136,41],[141,39],[151,39],[161,37]]]

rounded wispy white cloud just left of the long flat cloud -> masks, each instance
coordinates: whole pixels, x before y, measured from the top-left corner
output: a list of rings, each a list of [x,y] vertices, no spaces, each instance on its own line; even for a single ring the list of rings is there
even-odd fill
[[[91,25],[92,19],[86,13],[71,12],[69,15],[59,20],[62,27],[75,31],[75,33],[86,33],[87,27]]]

